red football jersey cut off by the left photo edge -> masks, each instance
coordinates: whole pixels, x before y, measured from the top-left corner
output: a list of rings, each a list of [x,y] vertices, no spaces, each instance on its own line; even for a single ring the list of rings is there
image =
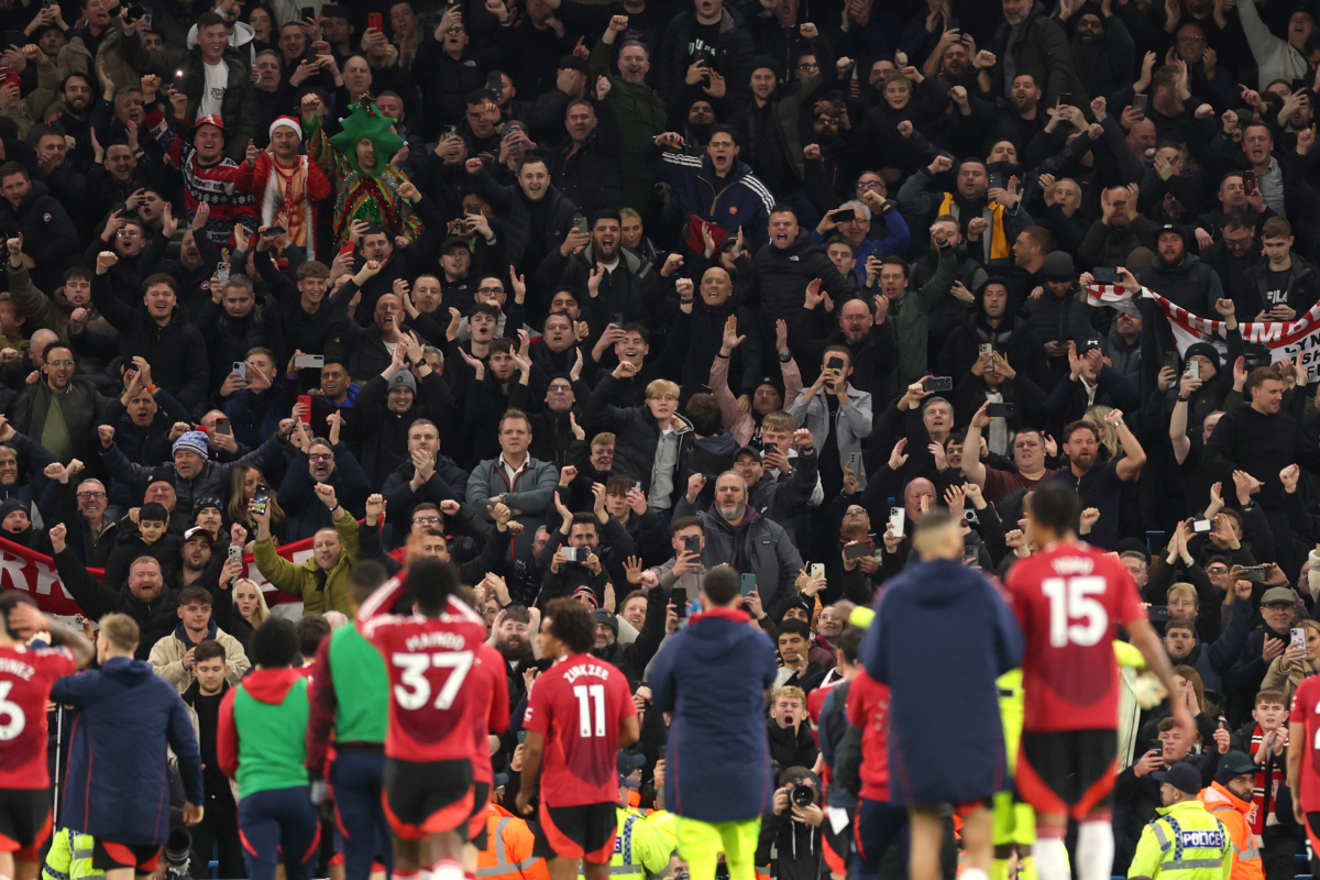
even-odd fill
[[[67,648],[0,648],[0,789],[44,789],[46,703],[78,664]]]

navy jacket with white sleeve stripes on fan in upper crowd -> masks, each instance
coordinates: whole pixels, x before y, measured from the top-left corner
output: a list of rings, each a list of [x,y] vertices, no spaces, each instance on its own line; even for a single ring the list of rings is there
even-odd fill
[[[770,240],[770,208],[775,207],[775,199],[746,162],[737,162],[729,177],[721,181],[709,156],[667,150],[656,146],[655,139],[642,145],[642,160],[652,175],[673,187],[675,198],[688,214],[696,214],[730,235],[738,235],[738,227],[742,227],[747,249],[752,253]]]

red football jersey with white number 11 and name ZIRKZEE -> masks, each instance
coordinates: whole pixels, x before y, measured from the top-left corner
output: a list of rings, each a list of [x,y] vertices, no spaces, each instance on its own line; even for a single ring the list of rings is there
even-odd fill
[[[541,801],[581,806],[619,800],[619,722],[638,714],[618,668],[572,654],[537,676],[523,727],[545,735]]]

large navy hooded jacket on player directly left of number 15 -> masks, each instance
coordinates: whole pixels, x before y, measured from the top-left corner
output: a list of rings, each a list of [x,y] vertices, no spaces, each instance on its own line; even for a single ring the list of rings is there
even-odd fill
[[[968,803],[1008,786],[995,678],[1022,650],[1008,606],[961,562],[921,562],[888,581],[862,662],[891,689],[895,803]]]

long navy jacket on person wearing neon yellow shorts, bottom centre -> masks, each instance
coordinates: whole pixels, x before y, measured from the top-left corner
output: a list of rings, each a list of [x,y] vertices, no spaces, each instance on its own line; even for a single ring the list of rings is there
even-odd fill
[[[677,815],[742,822],[772,807],[762,719],[777,666],[770,639],[748,620],[727,608],[697,615],[652,661],[652,703],[673,712],[664,802]]]

